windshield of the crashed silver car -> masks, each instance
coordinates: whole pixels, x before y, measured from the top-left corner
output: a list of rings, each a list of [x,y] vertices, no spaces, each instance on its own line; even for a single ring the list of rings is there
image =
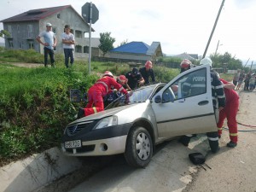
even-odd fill
[[[128,93],[128,96],[120,96],[118,99],[114,100],[105,109],[117,108],[124,105],[131,105],[139,102],[145,102],[151,93],[153,92],[155,86],[145,86],[139,90],[133,90]]]

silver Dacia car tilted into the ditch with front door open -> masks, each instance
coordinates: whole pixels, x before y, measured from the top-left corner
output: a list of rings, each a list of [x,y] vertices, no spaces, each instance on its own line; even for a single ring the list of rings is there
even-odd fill
[[[198,73],[205,84],[184,89]],[[125,154],[131,166],[145,167],[154,146],[172,137],[217,131],[212,107],[210,67],[195,67],[168,84],[144,86],[121,96],[108,107],[67,125],[61,141],[64,154],[97,156]]]

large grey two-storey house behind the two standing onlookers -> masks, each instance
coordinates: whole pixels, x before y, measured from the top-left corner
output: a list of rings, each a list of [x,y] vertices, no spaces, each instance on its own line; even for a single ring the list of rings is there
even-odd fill
[[[35,38],[46,29],[46,23],[53,25],[52,31],[55,32],[57,39],[55,52],[62,54],[61,34],[64,32],[64,26],[68,24],[75,36],[75,57],[88,57],[89,44],[84,34],[90,32],[90,26],[71,5],[33,9],[1,22],[3,29],[11,34],[5,39],[7,49],[35,49],[42,54],[44,46],[38,44]],[[94,29],[91,29],[91,32],[94,32]]]

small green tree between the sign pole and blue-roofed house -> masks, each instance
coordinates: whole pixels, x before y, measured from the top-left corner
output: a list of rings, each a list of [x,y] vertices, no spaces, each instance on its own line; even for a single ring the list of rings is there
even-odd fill
[[[99,48],[103,52],[103,56],[108,53],[108,50],[113,49],[113,43],[115,42],[115,38],[110,37],[111,32],[101,32],[100,33],[100,45]]]

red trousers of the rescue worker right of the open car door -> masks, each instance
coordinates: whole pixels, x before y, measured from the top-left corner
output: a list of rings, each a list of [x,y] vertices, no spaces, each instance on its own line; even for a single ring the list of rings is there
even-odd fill
[[[239,108],[239,99],[234,99],[231,102],[227,102],[226,106],[223,110],[219,112],[218,119],[218,136],[222,134],[222,127],[224,125],[224,119],[227,118],[227,124],[230,131],[230,141],[233,143],[237,143],[237,122],[236,122],[236,114]]]

